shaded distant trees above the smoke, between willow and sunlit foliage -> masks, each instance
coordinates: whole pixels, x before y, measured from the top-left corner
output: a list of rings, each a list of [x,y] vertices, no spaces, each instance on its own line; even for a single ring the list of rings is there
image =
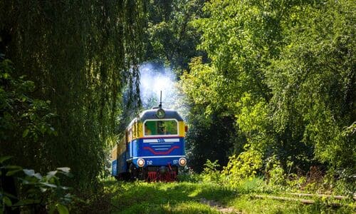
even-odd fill
[[[178,73],[188,69],[190,58],[202,54],[195,48],[200,35],[189,21],[202,15],[203,3],[201,0],[146,2],[145,61],[168,63]]]

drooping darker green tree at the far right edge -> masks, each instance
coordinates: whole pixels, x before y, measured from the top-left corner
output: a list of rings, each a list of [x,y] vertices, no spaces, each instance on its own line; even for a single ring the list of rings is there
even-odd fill
[[[356,120],[352,2],[296,8],[284,31],[288,46],[268,69],[276,131],[298,127],[297,139],[314,148],[317,160],[336,168],[353,163],[355,170],[355,136],[348,132]]]

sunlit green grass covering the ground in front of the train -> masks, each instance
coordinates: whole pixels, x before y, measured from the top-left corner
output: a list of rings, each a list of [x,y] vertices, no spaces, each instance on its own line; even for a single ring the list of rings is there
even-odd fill
[[[304,205],[294,201],[253,198],[256,194],[278,194],[261,179],[248,179],[234,188],[218,183],[103,182],[112,195],[111,213],[219,213],[201,203],[214,200],[242,213],[354,213],[350,207],[330,208],[325,203]]]

